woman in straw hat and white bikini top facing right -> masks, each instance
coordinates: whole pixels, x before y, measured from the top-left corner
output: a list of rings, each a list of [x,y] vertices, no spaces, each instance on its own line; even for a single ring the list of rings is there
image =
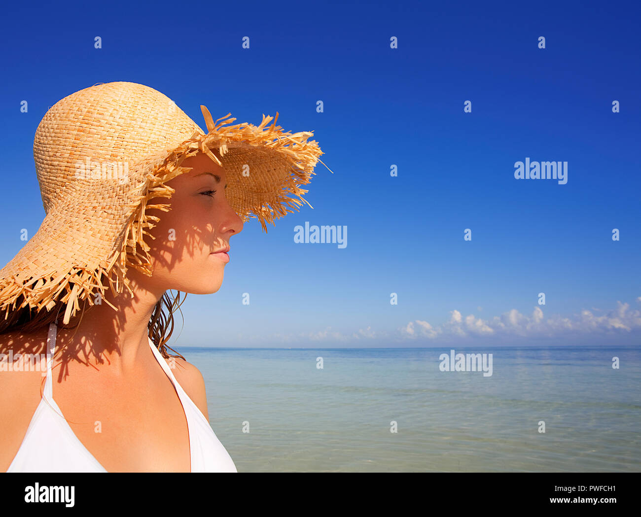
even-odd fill
[[[263,129],[271,117],[222,127],[235,119],[201,108],[206,134],[160,92],[108,83],[40,122],[47,216],[0,270],[0,352],[14,358],[0,368],[1,471],[236,472],[203,376],[165,352],[167,291],[219,290],[231,236],[300,205],[288,195],[303,199],[322,152],[311,133]],[[19,353],[46,367],[26,371]]]

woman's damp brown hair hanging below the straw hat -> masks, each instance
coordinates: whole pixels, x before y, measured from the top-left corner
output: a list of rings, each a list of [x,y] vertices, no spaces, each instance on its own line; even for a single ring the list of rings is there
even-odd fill
[[[183,293],[184,296],[182,301],[180,301],[180,295],[181,291],[176,291],[175,296],[170,295],[169,291],[165,291],[161,299],[158,300],[158,303],[151,314],[151,318],[149,318],[149,323],[147,324],[149,338],[153,341],[154,345],[165,359],[171,357],[167,352],[167,349],[169,349],[172,352],[175,352],[176,355],[173,357],[180,357],[185,360],[185,357],[181,356],[181,354],[166,344],[167,341],[169,341],[169,338],[171,338],[171,334],[174,332],[174,312],[178,309],[181,316],[183,314],[183,311],[180,310],[180,306],[185,301],[187,293]],[[21,302],[22,295],[17,300],[17,306],[19,306]],[[53,308],[48,311],[35,311],[29,306],[25,306],[15,311],[10,311],[6,316],[6,319],[0,318],[0,335],[12,331],[33,332],[41,329],[42,327],[49,327],[49,324],[53,322],[55,322],[59,328],[73,329],[78,327],[85,311],[91,309],[87,304],[87,300],[85,300],[80,311],[78,323],[74,325],[64,325],[62,323],[62,318],[64,316],[64,309],[66,306],[67,304],[65,302],[59,301],[56,302]],[[184,319],[185,318],[183,318],[183,321]],[[168,329],[169,332],[167,331]]]

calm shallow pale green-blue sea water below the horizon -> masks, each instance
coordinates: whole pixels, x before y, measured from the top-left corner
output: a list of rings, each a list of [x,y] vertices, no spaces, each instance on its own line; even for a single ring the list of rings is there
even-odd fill
[[[456,349],[491,376],[441,372],[450,348],[178,350],[238,472],[641,470],[635,347]]]

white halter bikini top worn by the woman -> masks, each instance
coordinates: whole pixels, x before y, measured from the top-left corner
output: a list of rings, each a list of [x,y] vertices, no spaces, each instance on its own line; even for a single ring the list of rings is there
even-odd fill
[[[191,472],[237,472],[231,456],[216,438],[201,410],[176,381],[171,368],[149,339],[149,346],[178,392],[187,417]],[[81,443],[53,400],[51,364],[56,350],[56,324],[47,337],[47,379],[22,444],[7,472],[107,472]]]

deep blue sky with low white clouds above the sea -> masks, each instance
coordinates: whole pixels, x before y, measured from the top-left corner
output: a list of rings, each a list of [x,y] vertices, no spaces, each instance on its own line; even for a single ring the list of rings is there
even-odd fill
[[[334,172],[315,169],[313,209],[267,234],[251,220],[231,239],[221,290],[187,295],[172,343],[638,344],[638,4],[153,6],[9,8],[3,264],[24,245],[21,229],[33,235],[44,218],[32,147],[47,108],[95,83],[132,81],[203,128],[200,104],[235,123],[278,111],[286,130],[314,132]],[[515,179],[526,157],[567,161],[567,184]],[[346,226],[347,247],[294,243],[306,221]]]

